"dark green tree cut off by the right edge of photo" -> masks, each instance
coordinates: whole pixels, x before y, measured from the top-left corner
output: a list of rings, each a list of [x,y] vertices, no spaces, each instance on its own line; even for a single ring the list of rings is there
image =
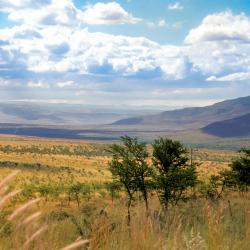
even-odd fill
[[[241,149],[241,156],[232,161],[232,182],[243,191],[247,191],[250,186],[250,149]]]

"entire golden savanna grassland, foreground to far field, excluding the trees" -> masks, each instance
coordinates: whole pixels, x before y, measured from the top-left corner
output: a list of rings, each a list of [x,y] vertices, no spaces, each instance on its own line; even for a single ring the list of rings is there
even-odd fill
[[[236,151],[190,150],[202,184],[188,201],[166,212],[152,192],[146,211],[138,194],[128,225],[109,144],[1,136],[0,249],[250,249],[250,195],[207,192]]]

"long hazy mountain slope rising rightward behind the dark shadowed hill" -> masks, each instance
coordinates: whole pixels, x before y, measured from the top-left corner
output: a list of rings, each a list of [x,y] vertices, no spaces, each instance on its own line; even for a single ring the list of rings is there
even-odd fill
[[[196,129],[217,121],[233,119],[250,111],[250,96],[227,100],[206,107],[184,108],[154,115],[121,119],[113,125],[164,127],[169,130]]]

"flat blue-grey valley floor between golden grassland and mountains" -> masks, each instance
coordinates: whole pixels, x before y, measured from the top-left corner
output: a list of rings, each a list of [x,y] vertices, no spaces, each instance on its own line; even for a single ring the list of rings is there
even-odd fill
[[[250,145],[250,137],[221,138],[203,133],[201,130],[168,131],[164,127],[112,126],[102,127],[39,127],[18,124],[0,124],[0,134],[93,142],[114,142],[123,135],[139,137],[148,143],[155,138],[169,137],[183,142],[188,147],[239,150]]]

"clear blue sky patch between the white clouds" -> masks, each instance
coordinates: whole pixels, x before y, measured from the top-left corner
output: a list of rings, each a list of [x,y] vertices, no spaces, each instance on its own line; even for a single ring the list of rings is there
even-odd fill
[[[83,8],[87,3],[95,4],[98,2],[76,0],[75,4],[79,8]],[[101,2],[108,3],[110,1]],[[248,0],[183,0],[177,1],[183,9],[175,11],[168,9],[168,5],[176,3],[176,1],[171,0],[122,0],[117,2],[128,12],[135,14],[146,22],[165,20],[169,27],[147,28],[145,27],[145,22],[142,22],[138,25],[126,25],[123,27],[91,26],[91,31],[103,31],[117,35],[139,35],[162,44],[182,44],[189,30],[198,26],[201,20],[211,13],[231,9],[235,14],[245,12],[250,15],[250,3]],[[171,27],[174,25],[177,27]]]

